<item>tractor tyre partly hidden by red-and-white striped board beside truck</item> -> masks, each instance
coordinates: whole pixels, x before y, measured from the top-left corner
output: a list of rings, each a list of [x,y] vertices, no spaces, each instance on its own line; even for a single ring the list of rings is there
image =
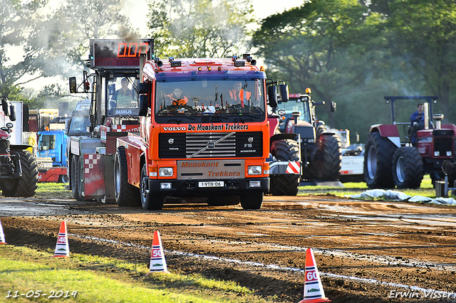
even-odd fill
[[[299,161],[298,143],[291,139],[276,140],[271,144],[271,154],[280,161]],[[300,177],[298,174],[272,175],[269,191],[274,196],[296,196]]]

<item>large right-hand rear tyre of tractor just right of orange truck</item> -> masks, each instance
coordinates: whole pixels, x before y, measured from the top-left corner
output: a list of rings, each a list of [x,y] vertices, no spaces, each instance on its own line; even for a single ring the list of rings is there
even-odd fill
[[[316,159],[309,164],[312,176],[318,180],[338,180],[341,177],[342,146],[336,134],[321,136]]]

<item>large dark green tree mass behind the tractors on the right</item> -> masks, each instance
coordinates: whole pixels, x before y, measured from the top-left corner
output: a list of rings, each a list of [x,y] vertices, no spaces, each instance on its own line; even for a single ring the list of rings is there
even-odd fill
[[[450,0],[305,1],[261,21],[253,43],[291,92],[338,102],[332,127],[367,134],[390,123],[385,95],[437,95],[451,112],[455,16]]]

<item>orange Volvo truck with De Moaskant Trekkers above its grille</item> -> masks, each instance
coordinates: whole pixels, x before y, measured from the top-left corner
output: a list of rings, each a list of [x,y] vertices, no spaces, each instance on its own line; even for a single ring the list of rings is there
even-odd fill
[[[134,206],[139,194],[144,209],[162,208],[166,196],[261,208],[269,191],[266,86],[276,107],[276,83],[255,63],[244,55],[140,65],[140,134],[117,138],[119,206]]]

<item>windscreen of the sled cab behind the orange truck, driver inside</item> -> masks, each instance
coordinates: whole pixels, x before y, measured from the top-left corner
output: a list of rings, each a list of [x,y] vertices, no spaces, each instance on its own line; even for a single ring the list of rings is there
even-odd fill
[[[129,110],[120,110],[129,109]],[[108,111],[114,114],[133,114],[138,109],[138,80],[133,77],[114,77],[108,80]]]

